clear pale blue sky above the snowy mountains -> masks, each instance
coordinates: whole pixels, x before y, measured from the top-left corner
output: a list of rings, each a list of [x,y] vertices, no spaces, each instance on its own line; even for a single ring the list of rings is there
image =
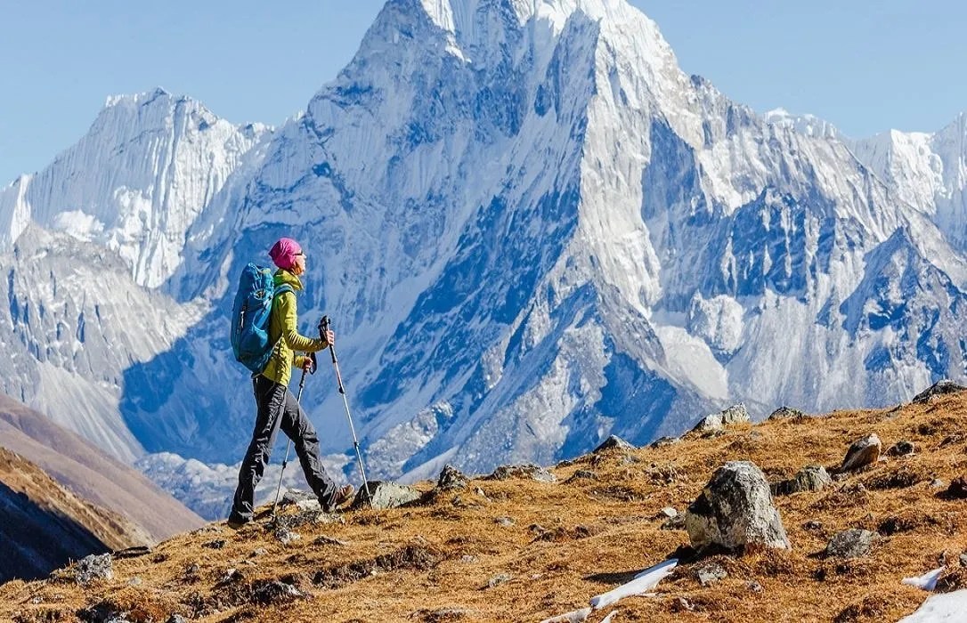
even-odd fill
[[[632,0],[682,68],[850,136],[967,110],[967,3]],[[44,168],[110,95],[168,91],[281,124],[355,53],[382,0],[0,0],[0,185]]]

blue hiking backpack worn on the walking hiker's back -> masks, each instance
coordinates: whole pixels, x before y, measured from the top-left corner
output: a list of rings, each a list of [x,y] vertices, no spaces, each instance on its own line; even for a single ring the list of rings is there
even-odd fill
[[[292,286],[283,284],[277,290],[272,269],[249,264],[242,270],[232,306],[232,353],[254,374],[265,369],[275,350],[269,343],[269,319],[272,298],[283,292],[293,292]]]

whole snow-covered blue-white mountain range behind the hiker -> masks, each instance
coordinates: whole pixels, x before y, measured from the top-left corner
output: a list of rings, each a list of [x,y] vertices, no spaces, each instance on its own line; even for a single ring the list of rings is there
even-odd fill
[[[965,161],[964,116],[850,140],[757,115],[624,0],[391,0],[278,129],[109,99],[0,190],[0,389],[124,461],[238,461],[231,297],[286,235],[374,476],[550,463],[740,401],[895,403],[963,381]],[[304,402],[348,448],[326,366]]]

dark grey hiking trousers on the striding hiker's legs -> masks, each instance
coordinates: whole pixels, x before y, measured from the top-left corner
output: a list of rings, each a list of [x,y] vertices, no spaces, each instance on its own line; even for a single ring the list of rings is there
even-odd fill
[[[249,450],[239,469],[239,486],[235,490],[229,521],[248,521],[254,514],[255,486],[262,479],[265,466],[272,453],[279,428],[292,439],[296,456],[302,464],[309,488],[319,498],[319,504],[328,508],[336,494],[336,483],[326,474],[319,460],[319,438],[296,397],[283,384],[259,375],[252,380],[255,404],[255,430],[251,434]]]

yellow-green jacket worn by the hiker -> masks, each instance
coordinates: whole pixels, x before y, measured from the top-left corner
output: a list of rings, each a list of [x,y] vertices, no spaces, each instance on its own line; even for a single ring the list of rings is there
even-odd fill
[[[262,370],[262,376],[289,384],[292,378],[292,367],[302,367],[305,356],[296,356],[296,352],[314,353],[329,348],[329,343],[320,338],[300,335],[296,327],[298,311],[296,309],[296,292],[303,289],[302,281],[288,270],[278,269],[274,275],[276,288],[282,284],[292,287],[293,292],[283,292],[272,299],[272,317],[269,319],[269,340],[276,346],[272,358]]]

